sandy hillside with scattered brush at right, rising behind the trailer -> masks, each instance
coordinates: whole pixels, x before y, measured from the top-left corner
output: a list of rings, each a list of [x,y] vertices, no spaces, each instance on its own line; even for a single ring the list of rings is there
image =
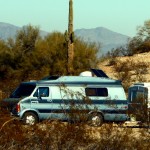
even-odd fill
[[[127,92],[135,82],[150,81],[150,20],[137,28],[137,34],[127,45],[112,49],[99,65],[110,77],[122,81]]]

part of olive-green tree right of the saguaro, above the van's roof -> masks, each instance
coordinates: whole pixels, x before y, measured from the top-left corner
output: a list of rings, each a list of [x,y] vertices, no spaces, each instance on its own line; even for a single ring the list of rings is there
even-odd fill
[[[99,63],[97,53],[100,49],[100,45],[94,42],[87,43],[80,38],[75,38],[74,43],[74,74],[89,70],[90,68],[97,68]]]

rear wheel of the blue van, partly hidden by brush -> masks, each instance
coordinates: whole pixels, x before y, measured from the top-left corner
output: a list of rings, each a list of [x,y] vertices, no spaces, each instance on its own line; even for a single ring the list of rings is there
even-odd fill
[[[103,121],[103,116],[100,113],[91,113],[88,117],[88,124],[90,126],[102,126]]]

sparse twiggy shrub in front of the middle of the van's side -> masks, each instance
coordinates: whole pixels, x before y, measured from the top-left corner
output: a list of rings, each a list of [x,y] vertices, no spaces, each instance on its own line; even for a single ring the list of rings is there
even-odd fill
[[[61,85],[59,88],[63,102],[60,104],[60,108],[65,118],[74,123],[86,122],[88,113],[92,110],[90,109],[92,101],[83,94],[82,88],[81,91],[72,90],[65,85]]]

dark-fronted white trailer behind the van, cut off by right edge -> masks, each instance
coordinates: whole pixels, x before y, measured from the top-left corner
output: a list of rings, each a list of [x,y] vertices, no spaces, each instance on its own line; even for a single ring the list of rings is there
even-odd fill
[[[135,83],[128,90],[129,114],[133,121],[150,121],[150,83]]]

